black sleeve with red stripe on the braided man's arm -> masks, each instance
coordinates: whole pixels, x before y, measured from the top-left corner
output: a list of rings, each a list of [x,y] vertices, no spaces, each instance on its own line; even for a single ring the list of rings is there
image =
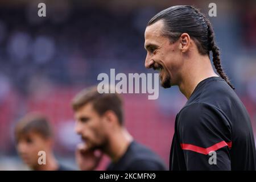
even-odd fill
[[[231,170],[232,131],[216,107],[202,103],[184,107],[177,132],[188,170]]]

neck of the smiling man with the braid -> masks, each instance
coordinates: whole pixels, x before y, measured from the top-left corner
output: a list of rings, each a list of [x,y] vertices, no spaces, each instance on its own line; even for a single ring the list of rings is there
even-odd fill
[[[180,92],[189,99],[191,94],[195,90],[199,82],[209,77],[218,76],[210,64],[208,57],[200,57],[200,59],[190,60],[193,64],[189,65],[185,74],[182,76],[181,82],[179,83]]]

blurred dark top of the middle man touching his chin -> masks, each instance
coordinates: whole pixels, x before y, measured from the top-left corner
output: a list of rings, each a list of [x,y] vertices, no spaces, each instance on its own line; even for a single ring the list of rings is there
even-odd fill
[[[154,152],[135,141],[131,142],[127,151],[117,163],[110,163],[108,171],[160,171],[166,166]]]

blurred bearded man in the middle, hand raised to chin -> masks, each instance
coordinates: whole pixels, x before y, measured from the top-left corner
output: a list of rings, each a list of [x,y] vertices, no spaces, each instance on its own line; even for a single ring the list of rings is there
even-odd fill
[[[82,90],[72,101],[76,133],[84,143],[76,151],[81,170],[93,170],[102,154],[112,160],[108,170],[165,170],[162,160],[135,142],[123,126],[122,100],[118,94]]]

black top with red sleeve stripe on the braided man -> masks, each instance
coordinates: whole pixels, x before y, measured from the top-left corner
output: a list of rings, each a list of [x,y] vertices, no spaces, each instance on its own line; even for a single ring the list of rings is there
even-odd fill
[[[176,115],[170,170],[255,170],[255,163],[245,106],[222,78],[201,81]]]

